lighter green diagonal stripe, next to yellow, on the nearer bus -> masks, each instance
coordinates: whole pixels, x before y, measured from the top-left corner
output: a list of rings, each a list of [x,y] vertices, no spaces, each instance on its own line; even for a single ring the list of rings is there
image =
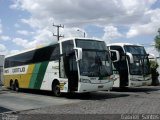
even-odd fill
[[[34,88],[34,85],[36,84],[39,68],[41,66],[41,63],[35,64],[34,70],[32,72],[32,77],[29,83],[29,88]]]

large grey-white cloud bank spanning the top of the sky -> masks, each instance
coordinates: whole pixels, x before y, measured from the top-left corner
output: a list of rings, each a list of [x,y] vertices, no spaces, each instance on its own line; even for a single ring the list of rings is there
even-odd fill
[[[65,25],[77,26],[80,23],[125,24],[127,19],[133,23],[155,2],[156,0],[17,0],[11,7],[31,13],[32,17],[23,19],[23,22],[34,27],[41,26],[49,18]]]

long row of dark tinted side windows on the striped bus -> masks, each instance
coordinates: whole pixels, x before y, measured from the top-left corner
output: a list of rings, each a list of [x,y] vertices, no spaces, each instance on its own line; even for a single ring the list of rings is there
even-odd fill
[[[5,59],[5,67],[14,67],[43,61],[58,60],[59,44],[29,51]]]

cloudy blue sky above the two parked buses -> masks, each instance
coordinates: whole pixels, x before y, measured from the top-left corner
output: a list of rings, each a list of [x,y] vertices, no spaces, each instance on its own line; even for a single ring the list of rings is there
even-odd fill
[[[142,44],[159,56],[160,0],[0,0],[0,54],[57,42],[55,25],[67,37]],[[77,31],[79,30],[79,31]]]

